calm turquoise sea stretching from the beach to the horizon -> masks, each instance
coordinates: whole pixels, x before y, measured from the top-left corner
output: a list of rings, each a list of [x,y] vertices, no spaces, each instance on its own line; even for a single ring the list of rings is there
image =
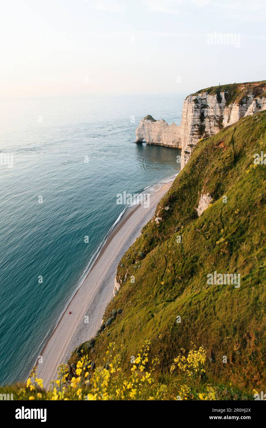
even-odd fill
[[[177,149],[135,144],[134,131],[146,114],[179,124],[183,99],[0,100],[0,153],[14,163],[0,164],[1,384],[35,363],[123,210],[117,193],[179,171]]]

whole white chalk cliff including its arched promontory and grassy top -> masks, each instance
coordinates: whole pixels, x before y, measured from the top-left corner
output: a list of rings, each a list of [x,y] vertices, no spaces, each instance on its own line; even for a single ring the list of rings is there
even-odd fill
[[[244,116],[266,110],[266,81],[212,86],[189,95],[183,103],[181,125],[168,125],[152,116],[140,121],[136,142],[181,148],[181,169],[199,139],[214,135]]]

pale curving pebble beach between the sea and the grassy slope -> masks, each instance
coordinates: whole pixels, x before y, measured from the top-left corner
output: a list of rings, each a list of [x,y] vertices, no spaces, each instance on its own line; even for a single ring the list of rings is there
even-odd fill
[[[166,182],[144,189],[143,192],[150,189],[146,191],[150,194],[149,207],[129,206],[106,235],[88,273],[41,348],[39,357],[43,357],[43,362],[39,363],[38,357],[35,363],[45,388],[56,375],[58,365],[67,362],[70,352],[95,336],[105,309],[114,297],[115,271],[120,259],[140,235],[143,226],[152,219],[158,202],[169,190],[174,179],[175,177],[170,177]],[[72,312],[71,315],[68,314],[69,311]],[[85,315],[92,321],[90,324],[84,323]]]

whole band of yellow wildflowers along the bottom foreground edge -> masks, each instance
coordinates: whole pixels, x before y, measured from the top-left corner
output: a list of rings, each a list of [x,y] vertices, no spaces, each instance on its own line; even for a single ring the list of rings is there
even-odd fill
[[[153,358],[149,364],[150,342],[143,343],[137,357],[134,358],[130,373],[121,369],[123,349],[116,349],[109,343],[104,357],[104,366],[96,366],[88,355],[77,362],[74,375],[70,376],[69,366],[58,367],[57,379],[50,383],[50,389],[43,388],[43,380],[37,375],[35,368],[29,375],[26,384],[17,392],[15,386],[9,387],[17,400],[216,400],[221,394],[231,393],[223,387],[210,385],[202,380],[201,373],[205,365],[205,350],[195,345],[184,356],[175,358],[174,368],[158,380],[160,362]],[[82,352],[82,351],[81,351]],[[72,368],[73,371],[73,368]],[[193,373],[193,375],[191,375]],[[181,374],[181,377],[180,377]]]

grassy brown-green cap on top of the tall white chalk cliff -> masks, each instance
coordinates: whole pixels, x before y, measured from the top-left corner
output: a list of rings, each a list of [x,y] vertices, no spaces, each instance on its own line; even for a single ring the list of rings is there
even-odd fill
[[[241,101],[248,93],[253,92],[255,96],[259,96],[265,92],[265,90],[266,80],[260,80],[258,82],[229,83],[226,85],[210,86],[209,88],[200,89],[191,95],[199,95],[202,92],[208,92],[208,95],[216,94],[219,102],[220,93],[225,92],[226,104],[228,105],[234,102],[241,104]]]

